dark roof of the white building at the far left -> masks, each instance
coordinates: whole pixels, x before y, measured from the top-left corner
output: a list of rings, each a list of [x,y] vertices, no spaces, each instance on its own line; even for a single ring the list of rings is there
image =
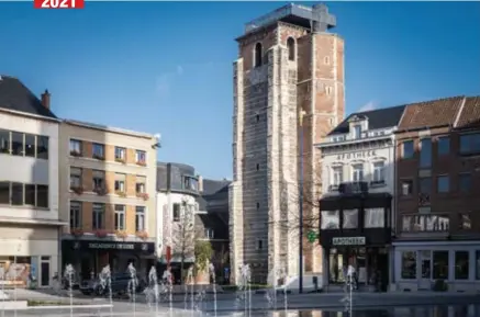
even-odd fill
[[[19,79],[3,75],[0,76],[0,109],[57,118]]]

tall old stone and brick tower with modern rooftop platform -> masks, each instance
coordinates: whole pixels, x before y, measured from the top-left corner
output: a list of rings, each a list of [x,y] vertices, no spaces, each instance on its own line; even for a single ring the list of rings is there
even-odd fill
[[[305,219],[315,218],[321,158],[313,145],[343,120],[344,42],[324,4],[288,4],[247,23],[234,63],[233,169],[230,190],[231,279],[249,264],[298,276],[299,166]],[[302,125],[300,125],[300,114]],[[303,129],[301,137],[300,129]],[[300,140],[303,154],[300,154]],[[322,272],[319,246],[304,244],[305,272]]]

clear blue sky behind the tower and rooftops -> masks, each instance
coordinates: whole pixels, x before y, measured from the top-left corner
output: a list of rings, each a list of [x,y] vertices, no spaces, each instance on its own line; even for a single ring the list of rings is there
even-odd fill
[[[0,2],[0,73],[53,110],[163,134],[163,161],[232,176],[232,63],[245,22],[283,2]],[[480,2],[331,2],[346,43],[347,113],[480,94]]]

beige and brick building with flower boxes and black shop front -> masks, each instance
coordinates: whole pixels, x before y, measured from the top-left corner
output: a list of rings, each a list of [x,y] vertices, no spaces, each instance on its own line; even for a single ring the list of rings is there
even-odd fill
[[[156,263],[156,161],[149,134],[64,121],[59,139],[59,210],[68,222],[63,265],[88,279],[130,262],[145,274]]]

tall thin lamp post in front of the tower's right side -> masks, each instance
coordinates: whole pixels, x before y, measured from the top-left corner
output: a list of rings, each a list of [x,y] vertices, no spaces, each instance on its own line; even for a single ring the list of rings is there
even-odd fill
[[[299,171],[299,294],[303,293],[303,116],[305,111],[300,110],[300,171]]]

